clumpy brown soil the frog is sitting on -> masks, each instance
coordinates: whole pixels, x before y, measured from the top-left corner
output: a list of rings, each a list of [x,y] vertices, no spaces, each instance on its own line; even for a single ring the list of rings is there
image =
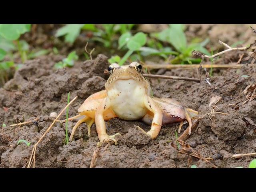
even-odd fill
[[[237,61],[239,54],[234,53],[236,52],[227,53],[219,62],[226,63],[227,57]],[[78,96],[70,106],[71,117],[77,114],[77,109],[88,96],[104,89],[108,78],[104,74],[104,69],[108,67],[106,56],[100,54],[93,61],[77,62],[74,68],[54,70],[54,63],[61,59],[61,56],[42,56],[30,60],[16,71],[12,80],[0,88],[0,125],[7,125],[0,128],[0,167],[26,165],[33,145],[54,120],[49,116],[50,113],[58,114],[66,106],[68,92],[71,99]],[[161,74],[198,78],[196,69],[176,69],[162,71]],[[250,77],[235,84],[242,75]],[[204,78],[203,73],[201,84],[163,79],[149,81],[154,96],[174,98],[186,108],[198,110],[200,116],[210,113],[208,105],[212,96],[221,96],[222,100],[216,104],[216,112],[228,115],[216,113],[214,116],[204,116],[196,132],[186,142],[199,150],[203,157],[213,158],[211,162],[217,167],[247,167],[252,157],[235,159],[228,156],[256,151],[256,101],[238,110],[234,110],[230,104],[244,100],[243,90],[250,83],[256,82],[256,65],[244,64],[241,69],[215,69],[210,78],[211,85]],[[36,117],[39,117],[37,122],[18,127],[9,126],[16,123],[16,120],[24,122]],[[61,119],[65,119],[65,114]],[[75,122],[68,123],[69,134],[74,124]],[[106,122],[108,134],[120,132],[122,136],[118,137],[117,146],[110,145],[106,150],[100,149],[97,168],[186,168],[192,164],[212,167],[203,160],[179,153],[171,146],[178,124],[163,126],[155,140],[148,138],[134,128],[134,125],[146,131],[150,129],[150,126],[139,121],[114,118]],[[89,138],[87,126],[82,124],[76,130],[75,140],[65,145],[65,124],[57,122],[37,147],[36,167],[90,167],[98,142],[95,124],[91,131],[92,136]],[[31,145],[21,143],[17,146],[20,139],[28,140]]]

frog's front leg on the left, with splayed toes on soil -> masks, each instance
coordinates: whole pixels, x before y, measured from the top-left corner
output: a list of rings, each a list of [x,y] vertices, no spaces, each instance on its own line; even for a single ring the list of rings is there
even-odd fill
[[[110,102],[106,97],[100,102],[95,112],[96,130],[98,133],[98,138],[100,140],[100,142],[98,142],[97,145],[101,145],[104,141],[108,142],[110,140],[114,141],[115,145],[117,145],[117,141],[114,139],[114,137],[117,135],[121,135],[120,133],[116,133],[114,135],[109,136],[106,132],[106,124],[104,121],[103,113],[109,108],[110,108]]]

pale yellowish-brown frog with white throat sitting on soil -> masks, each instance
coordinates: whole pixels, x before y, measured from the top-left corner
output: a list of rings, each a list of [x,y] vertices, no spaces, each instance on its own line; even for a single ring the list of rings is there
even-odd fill
[[[178,123],[178,133],[182,125],[188,122],[189,135],[191,134],[192,119],[198,116],[198,112],[190,108],[184,108],[178,101],[172,98],[156,98],[152,96],[150,83],[142,74],[142,65],[132,62],[129,65],[119,66],[117,63],[108,67],[109,78],[105,84],[105,90],[101,90],[89,96],[78,108],[78,115],[68,120],[79,119],[72,129],[69,141],[74,137],[76,128],[82,123],[90,128],[95,123],[98,134],[98,145],[103,142],[114,142],[117,145],[116,136],[108,135],[105,121],[112,118],[142,122],[151,125],[148,132],[136,126],[144,134],[155,139],[163,125]]]

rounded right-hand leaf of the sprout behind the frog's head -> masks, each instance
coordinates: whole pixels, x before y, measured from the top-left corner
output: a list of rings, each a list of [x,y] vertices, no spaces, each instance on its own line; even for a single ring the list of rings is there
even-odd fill
[[[140,50],[146,44],[147,36],[143,32],[136,33],[127,43],[129,50]]]

